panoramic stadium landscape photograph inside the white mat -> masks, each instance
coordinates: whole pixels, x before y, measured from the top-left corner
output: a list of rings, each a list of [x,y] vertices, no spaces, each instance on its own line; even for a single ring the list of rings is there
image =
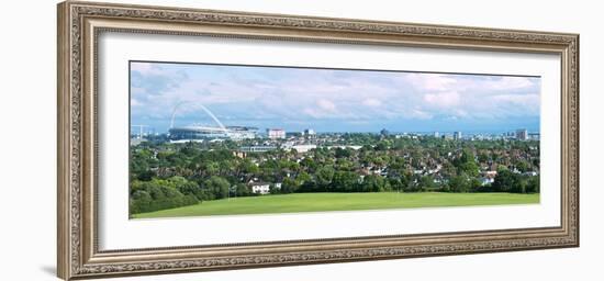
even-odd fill
[[[131,61],[128,216],[538,204],[540,83]]]

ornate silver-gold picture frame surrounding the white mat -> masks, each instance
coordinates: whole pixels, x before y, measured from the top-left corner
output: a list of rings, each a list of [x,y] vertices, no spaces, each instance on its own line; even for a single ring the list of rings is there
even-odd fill
[[[99,37],[170,35],[560,58],[559,225],[101,249]],[[579,35],[67,1],[58,5],[58,277],[230,270],[579,246]],[[354,59],[354,58],[351,58]],[[126,97],[127,99],[127,97]],[[127,120],[124,120],[127,122]],[[101,144],[102,145],[102,144]],[[558,191],[557,191],[558,192]]]

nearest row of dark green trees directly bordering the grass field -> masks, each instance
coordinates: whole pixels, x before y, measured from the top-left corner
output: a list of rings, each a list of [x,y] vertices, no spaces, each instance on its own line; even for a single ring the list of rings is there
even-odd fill
[[[321,177],[316,180],[307,177],[302,180],[286,178],[281,189],[272,188],[271,193],[294,192],[512,192],[535,193],[539,192],[539,177],[521,176],[510,170],[502,169],[491,186],[482,186],[476,178],[466,173],[454,177],[448,183],[435,183],[430,176],[418,177],[418,180],[410,182],[406,177],[384,178],[380,176],[366,176],[362,181],[355,172],[335,171],[329,168],[322,169]],[[302,177],[303,178],[303,177]],[[149,181],[135,180],[131,184],[130,210],[131,213],[145,213],[164,209],[172,209],[198,204],[202,201],[224,199],[228,196],[256,195],[244,183],[231,186],[219,176],[213,176],[202,184],[187,180],[182,177],[168,179],[154,178]]]

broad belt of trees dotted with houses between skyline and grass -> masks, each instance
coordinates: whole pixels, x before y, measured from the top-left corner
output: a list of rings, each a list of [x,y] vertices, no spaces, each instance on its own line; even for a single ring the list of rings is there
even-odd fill
[[[538,143],[454,143],[436,138],[395,139],[347,134],[306,154],[272,150],[233,155],[232,142],[143,143],[131,149],[131,213],[152,212],[227,196],[256,195],[249,181],[281,182],[271,193],[294,192],[539,192]],[[537,150],[532,148],[536,146]],[[481,167],[500,165],[492,184]],[[506,167],[515,167],[516,171]],[[438,168],[438,172],[425,172]],[[424,172],[416,172],[423,170]]]

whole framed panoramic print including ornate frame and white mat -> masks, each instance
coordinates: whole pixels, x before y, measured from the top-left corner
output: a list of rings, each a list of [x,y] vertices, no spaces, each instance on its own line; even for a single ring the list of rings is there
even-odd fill
[[[578,44],[60,3],[58,276],[578,247]]]

